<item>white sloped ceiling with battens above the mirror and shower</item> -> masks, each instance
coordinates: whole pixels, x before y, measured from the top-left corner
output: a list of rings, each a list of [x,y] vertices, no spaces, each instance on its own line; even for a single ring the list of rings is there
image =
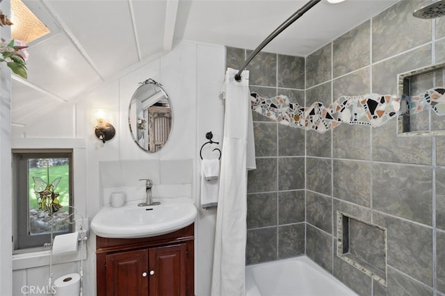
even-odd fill
[[[255,49],[305,0],[22,0],[51,30],[29,44],[29,78],[13,76],[14,124],[67,104],[180,40]],[[307,56],[397,0],[322,0],[264,51]],[[1,8],[1,3],[0,3]],[[14,22],[14,19],[13,19]]]

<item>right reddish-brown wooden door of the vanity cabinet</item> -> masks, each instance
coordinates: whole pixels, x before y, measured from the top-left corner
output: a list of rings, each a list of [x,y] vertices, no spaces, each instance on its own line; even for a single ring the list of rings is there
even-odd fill
[[[186,244],[149,249],[149,296],[186,296]]]

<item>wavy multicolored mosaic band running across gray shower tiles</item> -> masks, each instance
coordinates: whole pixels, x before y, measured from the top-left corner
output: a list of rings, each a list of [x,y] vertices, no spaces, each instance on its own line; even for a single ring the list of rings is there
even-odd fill
[[[252,92],[252,110],[272,120],[305,130],[325,133],[341,123],[381,126],[391,118],[401,115],[401,102],[407,102],[403,112],[416,114],[429,106],[437,115],[445,115],[445,88],[426,90],[414,97],[391,94],[364,94],[341,96],[328,107],[314,102],[309,107],[291,103],[285,95],[266,98]]]

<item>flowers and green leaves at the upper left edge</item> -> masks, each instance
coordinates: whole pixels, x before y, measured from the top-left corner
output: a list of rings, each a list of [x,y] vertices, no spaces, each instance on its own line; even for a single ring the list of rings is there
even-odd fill
[[[10,26],[13,22],[3,15],[0,10],[0,26]],[[22,42],[19,45],[15,44],[15,40],[6,42],[3,38],[0,38],[0,62],[5,62],[8,67],[17,75],[28,78],[26,74],[26,58],[28,53],[26,52],[26,46]]]

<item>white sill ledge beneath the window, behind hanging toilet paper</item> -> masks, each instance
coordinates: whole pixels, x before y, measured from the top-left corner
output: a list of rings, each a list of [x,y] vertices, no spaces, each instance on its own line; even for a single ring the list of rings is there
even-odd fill
[[[13,255],[13,270],[24,270],[26,268],[38,268],[40,266],[49,265],[49,258],[51,256],[51,251],[39,251],[39,252],[29,252],[22,254]],[[77,254],[67,254],[67,255],[53,255],[53,264],[76,262],[81,260],[86,260],[86,244],[82,246],[82,258],[81,251]]]

